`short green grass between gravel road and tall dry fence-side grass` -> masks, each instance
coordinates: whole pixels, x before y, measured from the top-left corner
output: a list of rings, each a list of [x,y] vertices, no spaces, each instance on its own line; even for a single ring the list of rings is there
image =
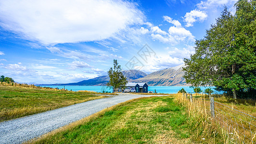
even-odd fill
[[[187,144],[194,133],[184,107],[172,96],[137,98],[106,108],[32,144]]]

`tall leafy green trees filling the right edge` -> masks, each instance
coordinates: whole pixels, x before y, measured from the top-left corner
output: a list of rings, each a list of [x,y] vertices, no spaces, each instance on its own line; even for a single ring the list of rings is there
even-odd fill
[[[234,15],[227,8],[206,36],[195,42],[195,54],[184,59],[185,80],[192,86],[216,86],[233,98],[256,94],[256,1],[239,0]]]

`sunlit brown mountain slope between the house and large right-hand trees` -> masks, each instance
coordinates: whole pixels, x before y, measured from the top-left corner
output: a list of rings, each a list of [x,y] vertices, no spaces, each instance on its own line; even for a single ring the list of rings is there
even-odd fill
[[[182,68],[185,65],[179,65],[169,69],[152,72],[143,78],[133,80],[136,83],[147,83],[152,86],[179,86],[188,85],[183,78],[184,72]]]

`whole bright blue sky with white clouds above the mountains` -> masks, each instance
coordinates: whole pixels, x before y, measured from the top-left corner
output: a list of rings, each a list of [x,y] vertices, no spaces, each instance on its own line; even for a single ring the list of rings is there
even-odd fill
[[[122,70],[183,64],[237,0],[0,0],[0,75],[73,83]]]

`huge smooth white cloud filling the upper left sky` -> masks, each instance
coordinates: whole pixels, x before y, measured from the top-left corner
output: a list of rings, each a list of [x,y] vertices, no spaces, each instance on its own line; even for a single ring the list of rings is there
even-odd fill
[[[145,19],[122,0],[1,0],[0,7],[0,26],[43,44],[103,40]]]

